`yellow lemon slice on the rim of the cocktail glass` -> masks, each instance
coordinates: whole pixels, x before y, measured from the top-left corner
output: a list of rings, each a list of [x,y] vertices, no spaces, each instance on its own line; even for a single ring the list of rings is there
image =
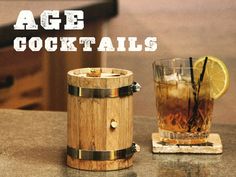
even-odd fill
[[[224,95],[229,88],[229,72],[223,61],[213,56],[207,57],[206,70],[210,76],[211,95],[213,99],[218,99]],[[194,67],[202,69],[204,60],[205,56],[197,59],[194,62]]]

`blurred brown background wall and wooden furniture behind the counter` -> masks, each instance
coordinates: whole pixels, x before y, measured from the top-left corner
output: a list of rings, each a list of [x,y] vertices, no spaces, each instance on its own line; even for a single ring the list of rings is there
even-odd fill
[[[45,9],[83,9],[83,31],[18,32],[12,30],[18,13],[30,9],[36,22]],[[236,124],[236,1],[233,0],[84,0],[0,2],[0,108],[66,111],[66,72],[79,67],[129,69],[142,91],[134,95],[136,115],[155,116],[151,64],[156,59],[213,55],[227,65],[231,84],[215,101],[214,122]],[[16,36],[135,36],[143,44],[158,38],[156,52],[14,52]],[[127,44],[128,47],[128,44]],[[14,81],[14,82],[13,82]]]

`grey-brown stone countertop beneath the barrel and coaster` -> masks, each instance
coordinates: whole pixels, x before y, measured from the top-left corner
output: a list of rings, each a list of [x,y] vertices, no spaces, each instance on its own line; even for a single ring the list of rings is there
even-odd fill
[[[66,113],[0,110],[0,177],[235,177],[236,125],[214,125],[221,155],[152,154],[154,118],[136,116],[134,140],[141,146],[129,169],[89,172],[66,166]]]

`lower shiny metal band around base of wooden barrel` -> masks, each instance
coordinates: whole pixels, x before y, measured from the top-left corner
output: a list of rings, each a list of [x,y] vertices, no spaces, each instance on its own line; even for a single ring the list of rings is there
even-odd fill
[[[72,159],[79,160],[95,160],[95,161],[103,161],[103,160],[117,160],[117,159],[128,159],[133,156],[133,154],[137,151],[136,144],[133,143],[131,147],[121,150],[114,151],[89,151],[82,149],[75,149],[70,146],[67,146],[67,155],[69,155]]]

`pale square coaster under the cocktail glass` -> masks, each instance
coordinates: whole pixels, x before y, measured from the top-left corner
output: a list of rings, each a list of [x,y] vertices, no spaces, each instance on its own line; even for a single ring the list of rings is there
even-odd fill
[[[201,145],[173,145],[160,141],[159,133],[152,133],[152,152],[159,154],[221,154],[223,146],[220,135],[211,133],[207,138],[207,143]]]

